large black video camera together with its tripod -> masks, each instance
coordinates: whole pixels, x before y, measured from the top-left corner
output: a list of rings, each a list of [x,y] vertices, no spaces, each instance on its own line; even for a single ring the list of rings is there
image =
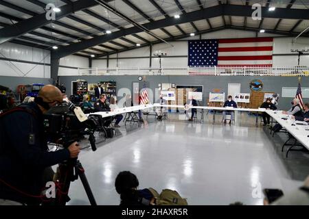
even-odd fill
[[[73,142],[79,142],[84,136],[89,136],[92,151],[96,150],[95,137],[93,133],[100,123],[95,116],[86,117],[80,107],[73,103],[62,103],[51,107],[47,114],[44,114],[44,132],[47,141],[67,148]],[[91,188],[84,175],[84,168],[78,159],[68,159],[61,162],[57,168],[55,183],[56,198],[54,205],[65,205],[70,199],[68,196],[71,181],[80,177],[84,190],[87,193],[91,205],[96,205]]]

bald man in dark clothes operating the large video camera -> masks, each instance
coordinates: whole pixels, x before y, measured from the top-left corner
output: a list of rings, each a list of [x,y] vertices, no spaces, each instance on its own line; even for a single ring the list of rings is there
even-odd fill
[[[77,142],[67,149],[48,151],[43,114],[57,103],[62,103],[60,90],[47,85],[34,102],[20,106],[24,110],[0,118],[0,205],[40,204],[41,190],[52,181],[51,166],[78,157]]]

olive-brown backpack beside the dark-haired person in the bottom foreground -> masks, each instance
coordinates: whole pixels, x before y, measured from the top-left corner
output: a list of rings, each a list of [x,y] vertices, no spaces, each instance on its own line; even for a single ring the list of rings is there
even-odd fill
[[[156,198],[156,205],[187,205],[187,199],[182,198],[175,190],[165,189],[160,194],[153,188],[148,190]]]

